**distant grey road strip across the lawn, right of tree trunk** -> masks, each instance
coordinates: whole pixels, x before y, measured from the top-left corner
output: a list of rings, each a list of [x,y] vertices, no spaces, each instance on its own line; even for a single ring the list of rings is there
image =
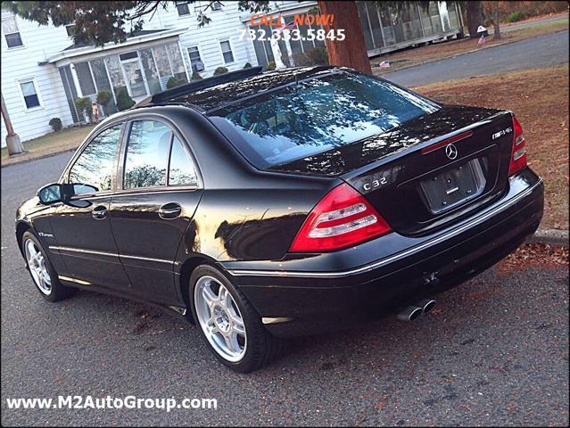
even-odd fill
[[[419,86],[453,78],[537,69],[564,62],[568,62],[567,30],[386,72],[381,76],[402,86]]]

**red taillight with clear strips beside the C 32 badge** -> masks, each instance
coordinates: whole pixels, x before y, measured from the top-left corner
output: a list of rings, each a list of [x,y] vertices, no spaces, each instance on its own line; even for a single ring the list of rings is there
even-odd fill
[[[340,250],[390,232],[388,223],[350,185],[326,193],[295,236],[292,252]]]

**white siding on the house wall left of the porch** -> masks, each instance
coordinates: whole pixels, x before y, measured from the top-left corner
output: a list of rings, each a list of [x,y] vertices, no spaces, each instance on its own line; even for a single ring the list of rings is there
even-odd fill
[[[3,12],[4,15],[5,12]],[[70,108],[63,92],[62,79],[53,64],[38,65],[46,56],[60,52],[73,42],[64,27],[38,26],[16,17],[23,47],[8,49],[2,34],[2,94],[12,119],[14,131],[21,141],[43,136],[52,128],[51,118],[62,119],[63,126],[72,123]],[[18,81],[35,78],[42,108],[26,111]],[[2,146],[6,144],[6,129],[2,121]]]

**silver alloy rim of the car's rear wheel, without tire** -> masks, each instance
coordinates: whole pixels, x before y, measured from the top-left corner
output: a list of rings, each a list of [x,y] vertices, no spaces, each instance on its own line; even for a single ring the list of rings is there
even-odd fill
[[[244,358],[244,319],[224,284],[213,276],[200,277],[194,287],[194,304],[202,332],[212,348],[233,363]]]

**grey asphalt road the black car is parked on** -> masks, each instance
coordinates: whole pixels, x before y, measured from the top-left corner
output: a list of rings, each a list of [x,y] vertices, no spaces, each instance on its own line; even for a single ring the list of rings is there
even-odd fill
[[[15,246],[18,203],[70,153],[2,169],[2,424],[568,424],[568,272],[494,268],[414,323],[290,342],[259,372],[219,366],[196,328],[90,292],[40,299]],[[341,320],[339,320],[339,323]],[[217,410],[9,410],[7,398],[215,398]]]

